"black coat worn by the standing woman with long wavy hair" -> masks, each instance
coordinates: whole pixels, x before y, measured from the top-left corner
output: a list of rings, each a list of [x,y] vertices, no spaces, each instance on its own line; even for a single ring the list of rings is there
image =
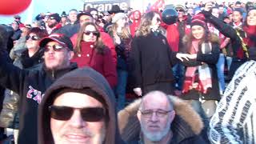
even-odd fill
[[[151,32],[134,37],[131,45],[129,63],[134,87],[174,81],[171,68],[178,58],[170,50],[165,36]]]

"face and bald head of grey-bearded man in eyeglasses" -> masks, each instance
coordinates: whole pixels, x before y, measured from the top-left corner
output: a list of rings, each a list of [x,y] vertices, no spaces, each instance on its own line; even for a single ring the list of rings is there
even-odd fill
[[[174,115],[166,96],[152,94],[145,97],[137,114],[144,137],[151,142],[161,141],[170,132]]]

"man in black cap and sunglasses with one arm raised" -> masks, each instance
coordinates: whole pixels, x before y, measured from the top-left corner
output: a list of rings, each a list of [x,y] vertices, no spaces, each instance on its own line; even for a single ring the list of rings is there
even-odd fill
[[[39,46],[44,49],[44,62],[33,70],[22,70],[7,62],[8,54],[1,41],[0,46],[0,83],[20,98],[18,143],[37,143],[38,104],[56,79],[77,68],[76,64],[70,63],[74,54],[72,42],[62,34],[42,38]]]

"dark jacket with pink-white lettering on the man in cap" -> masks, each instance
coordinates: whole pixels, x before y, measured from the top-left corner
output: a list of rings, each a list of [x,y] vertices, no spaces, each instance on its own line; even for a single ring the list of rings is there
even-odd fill
[[[38,142],[38,104],[46,89],[63,74],[77,68],[76,64],[62,70],[46,70],[44,65],[34,70],[21,70],[6,62],[8,54],[0,53],[0,84],[20,95],[20,125],[18,143]]]

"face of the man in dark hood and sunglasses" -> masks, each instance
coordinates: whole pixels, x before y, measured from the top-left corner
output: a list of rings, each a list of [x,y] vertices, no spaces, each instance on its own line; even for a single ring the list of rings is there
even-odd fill
[[[55,144],[100,144],[104,141],[106,123],[101,111],[104,108],[97,99],[67,92],[54,100],[50,110],[50,130]]]

